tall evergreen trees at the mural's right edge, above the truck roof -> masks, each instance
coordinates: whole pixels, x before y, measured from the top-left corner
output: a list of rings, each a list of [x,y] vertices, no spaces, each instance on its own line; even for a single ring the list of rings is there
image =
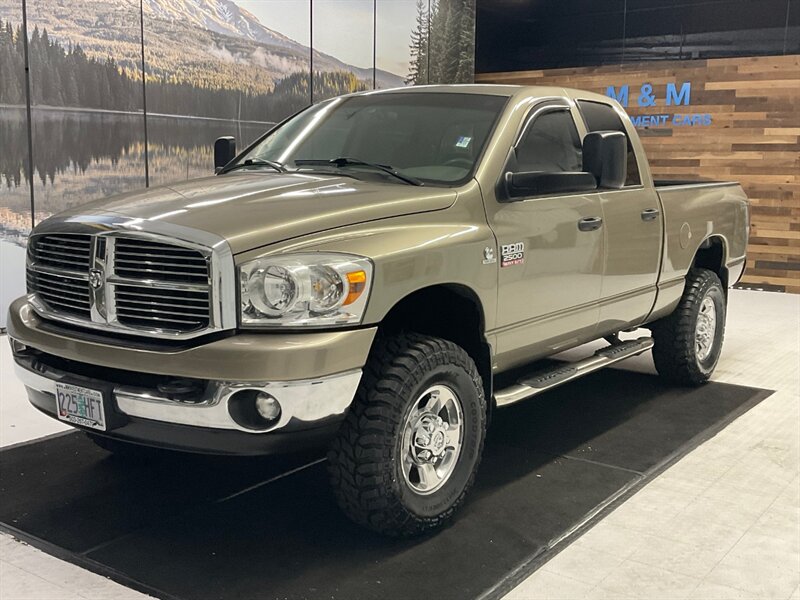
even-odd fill
[[[417,0],[406,83],[471,83],[475,71],[475,0]]]

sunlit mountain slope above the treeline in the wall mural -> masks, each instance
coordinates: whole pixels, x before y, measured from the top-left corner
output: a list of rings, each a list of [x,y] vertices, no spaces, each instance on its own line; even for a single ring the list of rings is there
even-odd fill
[[[0,16],[19,0],[0,0]],[[28,0],[29,33],[47,30],[62,46],[80,45],[88,58],[116,64],[137,77],[141,65],[139,2]],[[264,26],[232,0],[144,0],[148,79],[209,89],[265,93],[293,73],[308,72],[309,48]],[[349,72],[372,86],[372,68],[314,53],[314,69]],[[403,76],[378,70],[378,87]]]

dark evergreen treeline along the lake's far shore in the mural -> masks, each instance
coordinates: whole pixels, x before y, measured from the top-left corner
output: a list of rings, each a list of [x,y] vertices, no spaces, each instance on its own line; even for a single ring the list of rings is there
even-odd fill
[[[138,72],[121,69],[112,58],[88,57],[80,45],[64,47],[47,30],[33,30],[28,43],[31,103],[139,111]],[[21,28],[0,21],[0,104],[25,103],[24,46]],[[314,99],[367,89],[350,72],[315,72]],[[214,89],[175,83],[168,77],[147,79],[148,111],[246,121],[277,121],[309,103],[309,77],[295,73],[276,82],[271,92]]]

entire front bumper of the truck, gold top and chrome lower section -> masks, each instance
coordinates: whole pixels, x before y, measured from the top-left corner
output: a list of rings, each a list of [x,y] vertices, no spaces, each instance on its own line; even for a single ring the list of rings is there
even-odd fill
[[[158,351],[53,332],[24,302],[12,304],[10,313],[17,376],[42,412],[57,418],[56,382],[78,383],[105,390],[113,412],[109,429],[93,433],[226,454],[293,451],[328,441],[355,396],[369,352],[365,341],[371,344],[375,333],[245,334]],[[212,367],[207,361],[215,356]],[[335,368],[341,370],[329,372]],[[265,377],[286,374],[300,377]],[[179,379],[192,383],[191,397],[168,391]],[[259,426],[235,418],[231,399],[250,390],[277,399],[280,416]]]

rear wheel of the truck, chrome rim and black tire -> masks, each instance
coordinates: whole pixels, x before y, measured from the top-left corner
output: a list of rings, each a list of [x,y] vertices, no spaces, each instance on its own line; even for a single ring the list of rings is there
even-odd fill
[[[678,306],[653,323],[653,361],[658,373],[685,385],[700,385],[717,366],[725,334],[725,290],[708,269],[692,269]]]

